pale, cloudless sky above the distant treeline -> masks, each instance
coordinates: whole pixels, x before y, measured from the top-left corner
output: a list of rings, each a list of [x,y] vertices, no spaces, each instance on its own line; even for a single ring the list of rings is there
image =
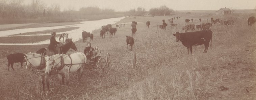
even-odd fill
[[[147,11],[151,8],[166,5],[173,10],[219,10],[220,8],[254,9],[256,0],[41,0],[49,7],[59,4],[61,10],[81,7],[97,6],[101,9],[110,8],[115,11],[129,11],[143,7]],[[24,4],[32,0],[24,0]]]

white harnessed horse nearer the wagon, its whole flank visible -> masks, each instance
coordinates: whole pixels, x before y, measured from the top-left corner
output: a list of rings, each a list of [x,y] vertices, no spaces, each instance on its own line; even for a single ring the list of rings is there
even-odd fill
[[[64,85],[64,78],[67,81],[67,85],[69,84],[69,72],[73,73],[78,71],[79,72],[79,78],[78,81],[80,81],[82,77],[83,67],[86,62],[86,56],[81,53],[73,53],[70,55],[53,55],[53,56],[45,56],[46,60],[46,83],[48,90],[49,87],[49,74],[53,70],[57,70],[58,77],[59,77],[59,84]],[[64,77],[62,77],[64,75]]]

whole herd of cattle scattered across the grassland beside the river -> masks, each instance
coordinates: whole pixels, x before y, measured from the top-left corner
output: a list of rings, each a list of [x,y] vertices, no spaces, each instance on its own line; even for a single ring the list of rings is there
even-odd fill
[[[173,20],[174,18],[168,19],[168,22],[171,23],[171,27],[176,27],[178,24],[173,24]],[[180,19],[180,17],[176,17],[176,19]],[[191,19],[191,21],[193,22],[194,19]],[[199,21],[201,22],[202,19],[199,19]],[[254,16],[251,16],[248,19],[248,26],[252,26],[254,25],[256,22],[256,19]],[[190,23],[190,19],[185,19],[185,23]],[[181,41],[182,44],[184,46],[187,47],[187,52],[189,54],[192,54],[192,46],[193,45],[205,45],[205,49],[204,49],[204,53],[207,53],[207,49],[209,47],[209,42],[212,40],[212,31],[210,29],[210,27],[212,26],[212,24],[224,24],[224,25],[231,25],[235,23],[234,20],[227,20],[227,21],[223,21],[220,19],[213,19],[211,18],[211,23],[202,23],[200,25],[196,25],[196,29],[199,30],[201,29],[201,31],[195,31],[195,25],[194,24],[188,24],[184,27],[182,27],[182,30],[185,31],[185,33],[181,33],[181,32],[175,32],[175,34],[173,34],[176,37],[176,41]],[[137,31],[136,28],[137,22],[133,21],[131,24],[131,31],[132,31],[132,36],[126,36],[126,43],[127,43],[127,48],[128,48],[128,44],[130,44],[130,50],[132,50],[132,47],[134,45],[134,38],[133,36],[135,36],[135,33]],[[146,22],[147,28],[149,28],[150,26],[150,21]],[[167,23],[165,23],[165,20],[162,20],[162,25],[159,25],[160,29],[166,29],[167,27]],[[117,24],[116,27],[120,28],[120,27],[124,27],[125,24]],[[105,38],[105,34],[108,32],[110,33],[110,37],[116,36],[116,32],[117,32],[117,28],[112,28],[111,24],[107,24],[106,26],[102,26],[101,27],[101,31],[100,31],[100,37],[101,39],[104,37]],[[191,30],[192,32],[188,32],[189,30]],[[195,32],[193,32],[195,31]],[[61,34],[61,36],[64,37],[68,37],[67,33],[63,33]],[[93,41],[93,37],[94,35],[91,34],[90,32],[86,32],[83,31],[82,32],[82,37],[83,37],[83,42],[87,42],[87,38],[90,37],[91,41]],[[61,37],[60,37],[61,38]],[[60,39],[59,38],[59,39]],[[14,70],[13,68],[13,64],[14,63],[21,63],[21,67],[22,67],[22,63],[26,61],[25,59],[25,55],[22,53],[17,53],[17,54],[10,54],[7,56],[7,60],[8,60],[8,71],[9,71],[9,66],[11,66],[11,68]]]

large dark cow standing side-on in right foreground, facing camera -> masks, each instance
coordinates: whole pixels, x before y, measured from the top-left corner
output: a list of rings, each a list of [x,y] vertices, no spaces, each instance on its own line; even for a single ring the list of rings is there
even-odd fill
[[[189,54],[189,50],[190,50],[190,53],[192,54],[193,45],[202,45],[202,44],[204,44],[204,47],[205,47],[204,53],[207,53],[209,42],[212,39],[211,30],[202,30],[202,31],[187,32],[187,33],[176,32],[173,35],[176,37],[176,42],[181,41],[181,43],[187,47],[188,54]]]

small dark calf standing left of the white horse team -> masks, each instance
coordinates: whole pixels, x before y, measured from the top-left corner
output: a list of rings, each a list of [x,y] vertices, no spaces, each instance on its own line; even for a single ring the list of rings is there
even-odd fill
[[[10,65],[11,65],[11,68],[12,68],[12,70],[14,70],[14,68],[13,68],[13,64],[14,63],[21,63],[21,68],[22,68],[22,64],[24,63],[24,62],[26,62],[26,55],[25,54],[22,54],[22,53],[16,53],[16,54],[10,54],[10,55],[8,55],[6,58],[7,58],[7,60],[8,60],[8,71],[10,71],[9,70],[9,67],[10,67]]]

